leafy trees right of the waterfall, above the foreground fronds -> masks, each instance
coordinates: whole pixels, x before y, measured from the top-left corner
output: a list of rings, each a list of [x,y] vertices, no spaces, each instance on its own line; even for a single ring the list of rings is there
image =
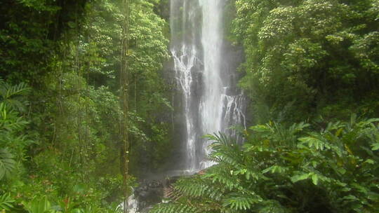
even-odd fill
[[[378,1],[235,2],[256,123],[378,116]]]

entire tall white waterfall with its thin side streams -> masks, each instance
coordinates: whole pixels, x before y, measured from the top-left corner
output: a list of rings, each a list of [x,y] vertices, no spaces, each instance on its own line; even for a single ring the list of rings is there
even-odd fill
[[[185,170],[209,167],[209,142],[202,135],[244,125],[245,97],[236,88],[236,70],[224,56],[223,10],[227,0],[171,0],[171,53],[182,94]]]

